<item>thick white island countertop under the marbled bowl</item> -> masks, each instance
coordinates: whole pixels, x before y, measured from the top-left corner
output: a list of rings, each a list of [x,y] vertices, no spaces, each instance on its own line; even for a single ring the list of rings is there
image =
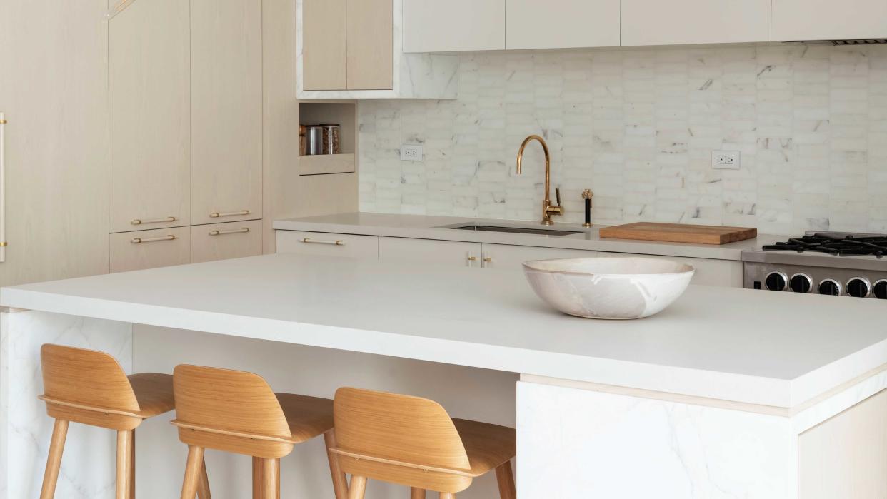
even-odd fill
[[[520,272],[296,254],[7,287],[0,305],[780,408],[887,363],[880,300],[691,285],[657,316],[595,321]]]

